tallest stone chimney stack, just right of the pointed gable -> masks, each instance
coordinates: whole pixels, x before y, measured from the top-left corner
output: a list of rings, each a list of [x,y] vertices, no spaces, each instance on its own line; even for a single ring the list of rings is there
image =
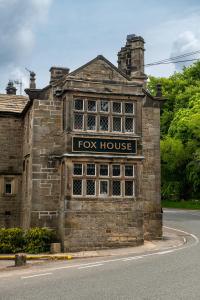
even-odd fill
[[[126,45],[118,52],[118,68],[131,79],[145,79],[144,39],[135,34],[127,35]]]

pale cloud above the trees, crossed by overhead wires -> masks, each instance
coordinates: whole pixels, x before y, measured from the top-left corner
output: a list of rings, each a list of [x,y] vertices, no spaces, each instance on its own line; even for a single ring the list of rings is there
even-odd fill
[[[197,33],[193,33],[192,31],[186,30],[179,34],[178,38],[172,44],[171,57],[182,55],[185,53],[193,52],[200,50],[200,37]],[[198,58],[200,54],[194,54],[187,57],[180,58],[178,60],[189,60]],[[193,61],[176,63],[176,70],[180,71],[183,69],[183,66],[189,66]]]

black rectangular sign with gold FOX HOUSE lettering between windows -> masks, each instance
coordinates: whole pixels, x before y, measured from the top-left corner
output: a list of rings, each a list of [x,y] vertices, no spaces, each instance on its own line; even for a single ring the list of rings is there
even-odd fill
[[[136,154],[136,140],[73,137],[74,152]]]

